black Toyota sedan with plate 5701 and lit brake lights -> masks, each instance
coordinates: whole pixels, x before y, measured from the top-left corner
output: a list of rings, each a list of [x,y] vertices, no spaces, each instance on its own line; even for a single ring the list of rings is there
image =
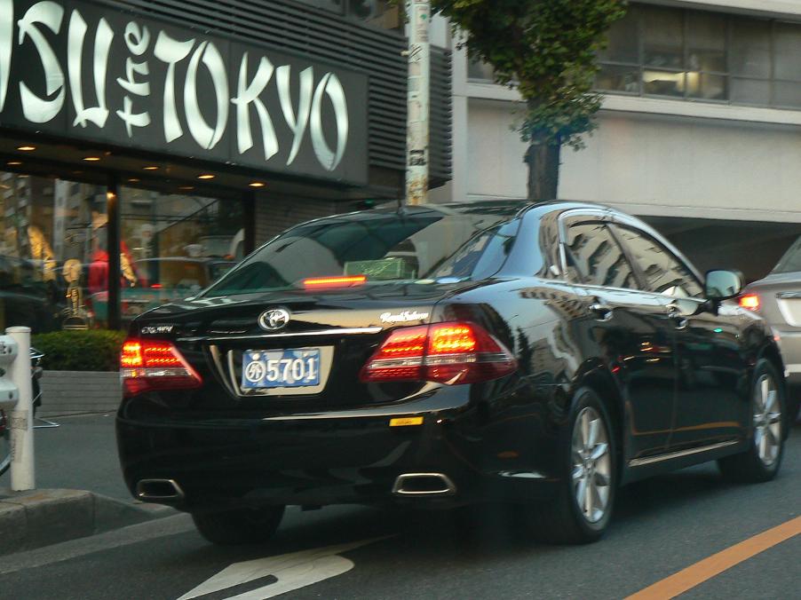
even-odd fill
[[[124,477],[216,543],[266,540],[287,504],[489,501],[593,541],[631,481],[779,470],[784,368],[741,285],[588,204],[297,225],[131,323]]]

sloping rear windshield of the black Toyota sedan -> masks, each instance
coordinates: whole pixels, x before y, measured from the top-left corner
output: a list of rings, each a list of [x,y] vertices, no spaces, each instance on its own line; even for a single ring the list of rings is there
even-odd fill
[[[365,212],[298,225],[258,249],[203,296],[303,288],[364,275],[367,285],[485,279],[503,266],[518,221],[436,210]]]

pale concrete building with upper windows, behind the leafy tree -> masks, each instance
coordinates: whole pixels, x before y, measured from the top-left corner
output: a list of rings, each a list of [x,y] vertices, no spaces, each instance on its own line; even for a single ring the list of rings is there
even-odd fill
[[[436,201],[526,195],[519,94],[454,45],[453,181]],[[630,4],[609,33],[598,130],[559,197],[644,217],[701,268],[767,272],[801,233],[801,1]]]

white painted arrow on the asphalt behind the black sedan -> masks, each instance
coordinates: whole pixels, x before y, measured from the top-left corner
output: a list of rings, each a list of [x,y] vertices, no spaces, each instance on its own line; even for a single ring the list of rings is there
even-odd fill
[[[325,548],[301,550],[277,557],[257,558],[243,563],[234,563],[204,581],[201,585],[187,592],[178,600],[190,600],[198,596],[221,592],[228,588],[241,586],[272,575],[276,581],[258,589],[252,589],[238,596],[230,596],[226,600],[266,600],[295,589],[305,588],[313,583],[337,577],[353,569],[353,561],[338,557],[347,552],[366,546],[385,538],[353,541],[348,544],[337,544]]]

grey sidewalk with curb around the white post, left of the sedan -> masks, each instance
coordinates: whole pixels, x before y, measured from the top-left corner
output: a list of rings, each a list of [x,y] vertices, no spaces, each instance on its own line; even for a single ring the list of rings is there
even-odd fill
[[[0,555],[175,514],[135,501],[117,460],[114,415],[52,417],[35,433],[36,490],[12,492],[0,477]]]

